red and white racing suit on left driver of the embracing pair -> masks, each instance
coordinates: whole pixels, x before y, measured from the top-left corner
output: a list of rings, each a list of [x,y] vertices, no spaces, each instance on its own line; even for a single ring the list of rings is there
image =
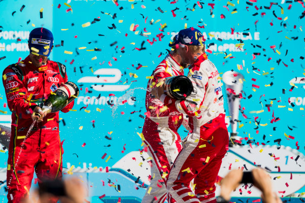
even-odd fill
[[[181,138],[177,130],[183,121],[181,113],[164,107],[159,99],[151,97],[150,91],[160,79],[179,75],[184,75],[182,67],[168,54],[148,81],[145,101],[147,112],[142,133],[153,164],[150,186],[142,199],[143,203],[164,202],[166,199],[168,174],[181,150]]]

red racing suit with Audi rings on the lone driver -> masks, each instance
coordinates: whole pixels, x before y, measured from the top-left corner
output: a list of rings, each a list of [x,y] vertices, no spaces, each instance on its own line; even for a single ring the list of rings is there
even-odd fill
[[[51,92],[67,81],[66,66],[62,63],[48,60],[46,65],[36,67],[29,56],[3,72],[8,107],[12,111],[7,170],[9,202],[19,202],[28,195],[34,170],[38,183],[62,178],[64,151],[59,138],[58,112],[47,114],[26,134],[33,123],[34,108],[42,107]],[[74,102],[70,103],[62,111],[68,112],[73,105]]]

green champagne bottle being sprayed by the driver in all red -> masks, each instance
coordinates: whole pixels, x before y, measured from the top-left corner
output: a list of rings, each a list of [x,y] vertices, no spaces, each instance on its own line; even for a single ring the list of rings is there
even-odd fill
[[[41,110],[44,113],[60,111],[64,109],[71,101],[73,101],[78,95],[79,89],[77,85],[68,81],[62,86],[58,87],[55,92],[51,93]]]

